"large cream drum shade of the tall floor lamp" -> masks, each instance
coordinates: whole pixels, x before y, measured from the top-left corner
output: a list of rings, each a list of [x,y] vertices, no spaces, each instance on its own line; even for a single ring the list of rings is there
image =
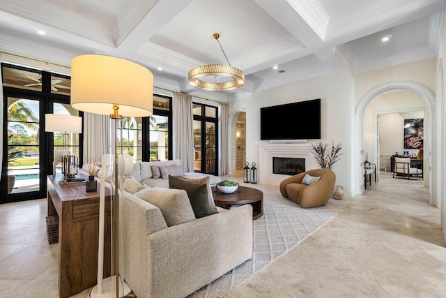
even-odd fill
[[[111,114],[119,105],[123,117],[153,114],[153,74],[121,58],[82,55],[71,61],[71,106],[93,114]]]

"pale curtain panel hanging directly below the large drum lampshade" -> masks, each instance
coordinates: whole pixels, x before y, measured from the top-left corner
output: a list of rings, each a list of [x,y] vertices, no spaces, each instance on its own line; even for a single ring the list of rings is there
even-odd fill
[[[90,161],[102,154],[108,154],[111,146],[110,117],[107,115],[84,113],[84,156]],[[84,163],[87,161],[84,160]]]

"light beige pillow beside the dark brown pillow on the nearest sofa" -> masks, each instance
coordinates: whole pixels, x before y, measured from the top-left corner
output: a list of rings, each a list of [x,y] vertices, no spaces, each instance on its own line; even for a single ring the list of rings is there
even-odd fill
[[[187,193],[182,189],[146,188],[135,195],[160,208],[169,227],[196,219]]]

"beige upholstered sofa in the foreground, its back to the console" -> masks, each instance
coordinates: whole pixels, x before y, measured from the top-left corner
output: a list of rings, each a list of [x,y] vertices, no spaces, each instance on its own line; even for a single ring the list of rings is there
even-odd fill
[[[123,196],[124,278],[138,298],[186,297],[252,258],[251,205],[168,226],[147,202],[184,195],[151,188]]]

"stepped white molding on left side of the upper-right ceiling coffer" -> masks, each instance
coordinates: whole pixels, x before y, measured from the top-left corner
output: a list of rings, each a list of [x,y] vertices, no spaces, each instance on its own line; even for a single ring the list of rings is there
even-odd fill
[[[318,0],[287,0],[292,8],[307,22],[309,27],[321,38],[325,40],[325,33],[328,29],[330,16],[325,11]]]

